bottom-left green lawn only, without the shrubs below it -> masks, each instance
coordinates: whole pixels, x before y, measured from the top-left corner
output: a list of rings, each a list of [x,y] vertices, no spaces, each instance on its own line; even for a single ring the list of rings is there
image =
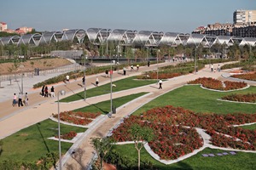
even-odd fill
[[[73,127],[61,124],[61,134],[75,131],[84,133],[87,128]],[[2,139],[3,152],[0,161],[27,161],[36,162],[41,156],[49,152],[58,153],[59,144],[57,140],[47,139],[58,134],[58,122],[47,119],[26,127],[17,133]],[[65,154],[72,143],[61,142],[61,153]]]

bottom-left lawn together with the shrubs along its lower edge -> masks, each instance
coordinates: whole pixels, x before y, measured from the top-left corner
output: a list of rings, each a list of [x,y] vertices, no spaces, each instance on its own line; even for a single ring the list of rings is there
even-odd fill
[[[84,133],[86,129],[61,124],[61,134],[67,134],[71,131]],[[0,169],[6,168],[3,166],[4,161],[8,164],[9,169],[17,168],[15,164],[17,166],[23,164],[23,166],[31,167],[31,169],[49,169],[58,161],[59,156],[57,154],[58,141],[48,138],[57,137],[57,135],[58,123],[48,119],[2,139],[3,152],[0,156]],[[62,142],[61,153],[65,154],[71,146],[71,143]]]

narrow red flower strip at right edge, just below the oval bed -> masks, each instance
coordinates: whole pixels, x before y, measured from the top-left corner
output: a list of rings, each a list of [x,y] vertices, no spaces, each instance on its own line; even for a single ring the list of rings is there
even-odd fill
[[[256,94],[230,94],[222,97],[230,101],[256,103]]]

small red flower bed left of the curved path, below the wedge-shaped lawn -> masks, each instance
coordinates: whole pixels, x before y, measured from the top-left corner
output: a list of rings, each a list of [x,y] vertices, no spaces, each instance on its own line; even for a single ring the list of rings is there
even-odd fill
[[[100,115],[101,113],[64,111],[60,113],[60,119],[63,122],[69,122],[77,125],[87,125]],[[58,114],[53,114],[53,116],[58,118]]]

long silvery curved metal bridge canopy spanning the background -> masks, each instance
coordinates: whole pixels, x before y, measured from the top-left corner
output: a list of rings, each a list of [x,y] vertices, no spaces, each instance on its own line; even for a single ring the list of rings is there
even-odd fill
[[[91,43],[101,45],[108,42],[116,42],[119,45],[135,45],[144,47],[154,47],[159,45],[168,45],[175,47],[178,44],[195,45],[202,44],[206,48],[212,47],[215,43],[234,45],[256,45],[254,37],[230,37],[230,36],[212,36],[202,34],[183,34],[177,32],[157,32],[157,31],[131,31],[123,29],[89,28],[73,29],[68,31],[49,31],[42,34],[27,34],[21,37],[0,37],[0,45],[7,44],[32,44],[38,46],[40,43],[73,41],[75,38],[79,43],[84,41],[87,35]]]

